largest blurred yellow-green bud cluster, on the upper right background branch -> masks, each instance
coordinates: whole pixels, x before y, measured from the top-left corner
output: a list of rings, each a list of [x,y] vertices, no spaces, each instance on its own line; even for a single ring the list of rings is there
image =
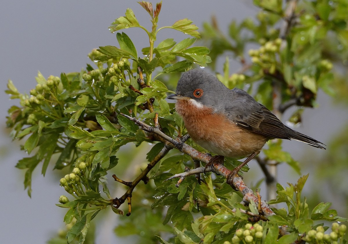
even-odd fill
[[[262,46],[259,49],[250,49],[249,55],[253,63],[259,64],[263,69],[268,69],[270,74],[276,71],[276,53],[279,52],[282,39],[277,38],[272,41],[260,41]]]

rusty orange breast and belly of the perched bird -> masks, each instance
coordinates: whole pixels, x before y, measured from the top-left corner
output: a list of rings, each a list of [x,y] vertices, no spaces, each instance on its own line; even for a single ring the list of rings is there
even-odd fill
[[[206,150],[231,158],[246,157],[260,151],[268,138],[239,128],[227,117],[200,107],[190,100],[178,100],[175,105],[191,138]]]

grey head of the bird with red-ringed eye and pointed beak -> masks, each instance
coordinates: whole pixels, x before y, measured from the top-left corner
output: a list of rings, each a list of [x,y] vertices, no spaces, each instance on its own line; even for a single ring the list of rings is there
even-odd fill
[[[214,107],[221,104],[224,95],[230,92],[214,75],[203,69],[191,69],[185,72],[179,79],[176,94],[169,99],[193,99],[201,105]]]

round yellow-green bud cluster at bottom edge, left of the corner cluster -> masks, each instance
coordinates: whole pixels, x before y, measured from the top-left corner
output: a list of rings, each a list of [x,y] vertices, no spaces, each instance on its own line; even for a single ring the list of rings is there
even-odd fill
[[[232,243],[255,243],[257,240],[262,239],[263,227],[255,223],[247,223],[244,228],[236,230],[235,236],[232,238]]]

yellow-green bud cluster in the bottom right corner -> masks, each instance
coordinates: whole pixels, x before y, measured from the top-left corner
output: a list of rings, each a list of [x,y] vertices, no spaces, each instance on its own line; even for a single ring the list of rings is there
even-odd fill
[[[334,222],[332,223],[331,230],[330,234],[325,234],[324,227],[318,226],[315,230],[309,230],[303,239],[308,243],[340,243],[340,238],[346,234],[347,226]]]

